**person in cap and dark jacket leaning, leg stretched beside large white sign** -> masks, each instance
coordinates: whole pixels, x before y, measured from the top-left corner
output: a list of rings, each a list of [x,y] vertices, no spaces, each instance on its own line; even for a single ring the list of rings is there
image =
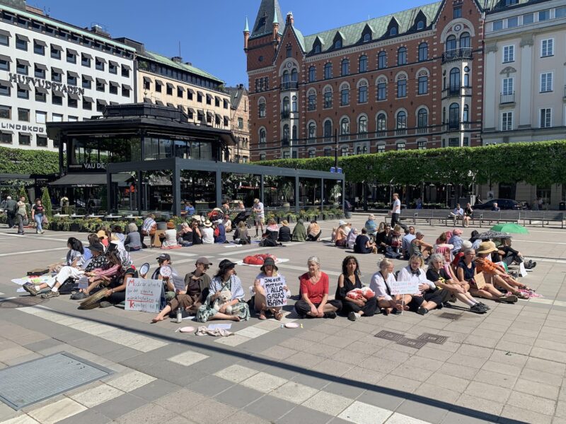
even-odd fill
[[[163,321],[168,314],[183,308],[188,314],[196,314],[209,293],[211,279],[207,269],[212,265],[206,257],[197,259],[195,271],[185,275],[185,290],[175,290],[175,297],[167,302],[166,307],[159,312],[151,322]]]

